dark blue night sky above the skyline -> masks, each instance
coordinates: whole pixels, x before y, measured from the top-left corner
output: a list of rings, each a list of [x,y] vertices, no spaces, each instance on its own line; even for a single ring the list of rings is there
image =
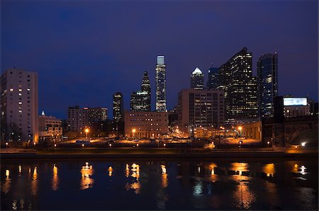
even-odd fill
[[[147,71],[155,109],[155,63],[167,63],[168,108],[199,67],[247,47],[279,55],[279,95],[318,101],[318,1],[1,1],[1,72],[38,72],[39,110],[105,106],[121,91],[125,109]]]

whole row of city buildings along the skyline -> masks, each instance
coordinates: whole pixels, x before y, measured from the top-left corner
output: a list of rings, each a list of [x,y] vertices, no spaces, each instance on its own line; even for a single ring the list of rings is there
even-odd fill
[[[252,52],[246,47],[220,67],[211,64],[206,83],[205,75],[196,67],[190,75],[189,89],[179,91],[178,103],[169,112],[166,69],[164,56],[157,56],[155,106],[151,105],[148,73],[143,72],[140,90],[130,94],[129,110],[124,108],[123,93],[113,94],[113,120],[108,120],[108,108],[79,105],[67,109],[67,120],[44,112],[38,115],[38,74],[7,69],[1,74],[1,143],[55,142],[65,132],[87,136],[86,129],[97,137],[159,138],[172,131],[189,137],[199,131],[214,134],[213,130],[242,124],[250,124],[247,135],[259,137],[255,133],[260,120],[318,114],[318,103],[308,96],[278,96],[276,52],[258,58],[257,76],[252,76]]]

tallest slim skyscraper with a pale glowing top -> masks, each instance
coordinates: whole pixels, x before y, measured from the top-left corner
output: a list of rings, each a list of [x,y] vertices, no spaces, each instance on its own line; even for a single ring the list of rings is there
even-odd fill
[[[166,111],[166,65],[164,56],[157,56],[156,64],[156,111]]]

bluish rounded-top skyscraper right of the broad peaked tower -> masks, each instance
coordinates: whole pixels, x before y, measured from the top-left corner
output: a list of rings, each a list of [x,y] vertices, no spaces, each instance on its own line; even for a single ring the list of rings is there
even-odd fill
[[[278,95],[278,56],[268,53],[257,62],[258,106],[261,118],[274,115],[274,97]]]

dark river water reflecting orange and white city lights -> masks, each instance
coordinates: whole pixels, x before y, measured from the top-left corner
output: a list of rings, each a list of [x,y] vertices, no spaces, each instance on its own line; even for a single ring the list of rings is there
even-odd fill
[[[1,161],[1,210],[246,209],[318,210],[317,158]]]

